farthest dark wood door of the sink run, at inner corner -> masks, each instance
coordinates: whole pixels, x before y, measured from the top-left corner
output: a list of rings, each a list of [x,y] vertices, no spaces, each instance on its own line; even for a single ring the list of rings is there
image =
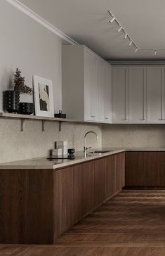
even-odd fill
[[[125,153],[115,155],[116,160],[116,192],[125,186]]]

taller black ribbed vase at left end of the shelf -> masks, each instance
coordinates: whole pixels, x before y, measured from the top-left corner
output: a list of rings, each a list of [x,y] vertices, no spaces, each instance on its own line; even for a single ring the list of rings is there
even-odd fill
[[[4,91],[4,110],[8,113],[18,113],[20,103],[19,91]]]

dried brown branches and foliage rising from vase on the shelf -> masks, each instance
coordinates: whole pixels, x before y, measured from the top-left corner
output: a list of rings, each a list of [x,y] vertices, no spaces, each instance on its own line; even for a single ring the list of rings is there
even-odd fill
[[[30,87],[27,87],[25,84],[25,77],[21,76],[21,71],[17,68],[15,72],[13,72],[14,75],[14,91],[19,91],[20,94],[33,94],[33,89]]]

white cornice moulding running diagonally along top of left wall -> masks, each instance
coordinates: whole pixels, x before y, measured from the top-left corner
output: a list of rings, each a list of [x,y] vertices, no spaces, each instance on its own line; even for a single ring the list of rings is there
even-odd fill
[[[27,16],[29,16],[29,18],[32,18],[32,20],[35,20],[37,23],[46,27],[47,30],[58,35],[58,37],[60,37],[61,39],[64,39],[65,41],[67,41],[67,43],[72,45],[78,44],[77,41],[74,41],[71,37],[68,37],[67,34],[58,30],[57,27],[53,26],[51,23],[48,23],[47,20],[44,20],[44,18],[41,18],[41,16],[39,16],[37,13],[34,13],[34,11],[29,9],[24,4],[20,3],[20,1],[18,0],[6,0],[6,1],[12,6],[14,6],[15,8],[17,8],[19,11],[22,11],[22,13],[25,13]]]

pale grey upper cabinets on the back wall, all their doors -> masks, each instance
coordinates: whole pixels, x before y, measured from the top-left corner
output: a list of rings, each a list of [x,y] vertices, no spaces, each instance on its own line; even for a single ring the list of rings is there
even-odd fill
[[[112,68],[112,123],[164,123],[164,66]]]

